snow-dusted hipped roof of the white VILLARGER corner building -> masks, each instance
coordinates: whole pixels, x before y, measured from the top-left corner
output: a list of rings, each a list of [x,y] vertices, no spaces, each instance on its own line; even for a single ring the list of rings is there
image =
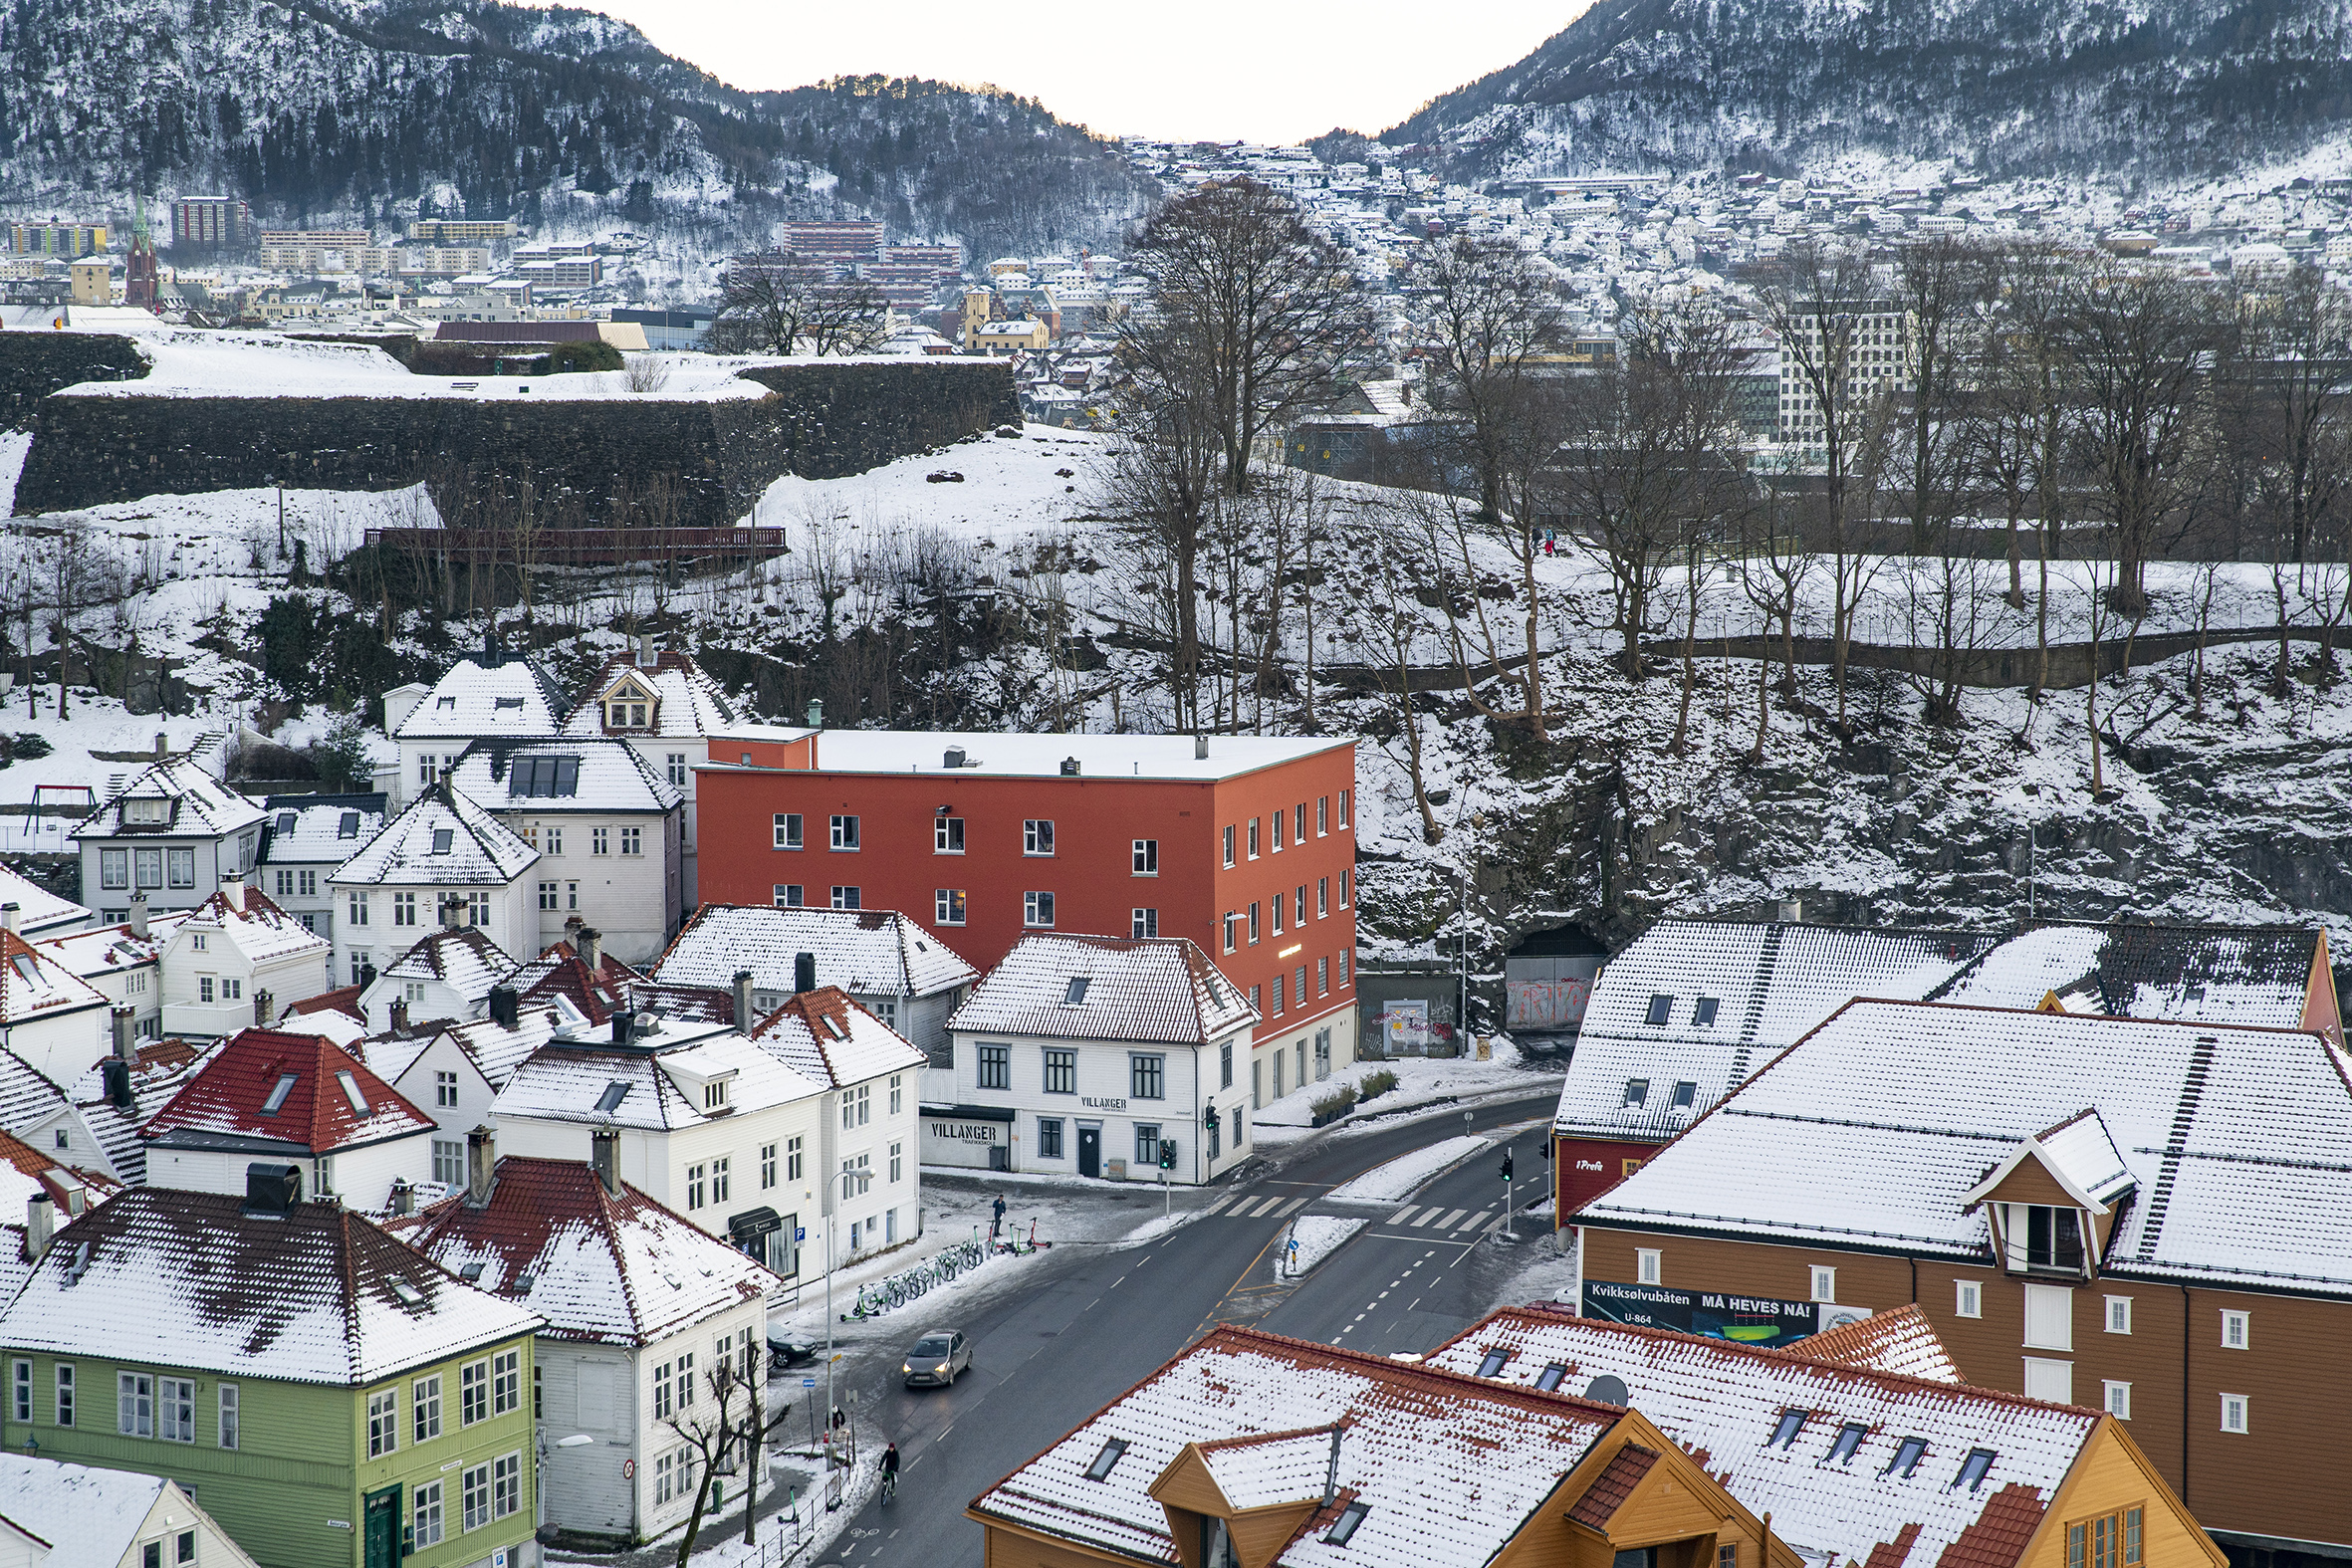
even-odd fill
[[[1197,1046],[1256,1020],[1192,938],[1023,936],[948,1027]]]

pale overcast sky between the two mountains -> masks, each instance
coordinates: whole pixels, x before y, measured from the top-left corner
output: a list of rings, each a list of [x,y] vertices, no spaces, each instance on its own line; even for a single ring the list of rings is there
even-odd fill
[[[579,2],[579,0],[576,0]],[[1122,136],[1376,134],[1517,61],[1590,0],[586,0],[734,87],[995,82]]]

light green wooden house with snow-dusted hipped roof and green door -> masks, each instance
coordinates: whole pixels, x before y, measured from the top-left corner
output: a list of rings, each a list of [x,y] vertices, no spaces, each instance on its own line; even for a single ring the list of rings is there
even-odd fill
[[[0,1441],[169,1476],[263,1568],[532,1568],[539,1314],[275,1173],[59,1229],[0,1316]]]

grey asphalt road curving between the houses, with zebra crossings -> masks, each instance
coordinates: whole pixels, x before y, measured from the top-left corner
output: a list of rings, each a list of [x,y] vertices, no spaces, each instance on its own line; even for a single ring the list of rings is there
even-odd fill
[[[1477,1213],[1479,1192],[1486,1211],[1501,1213],[1498,1159],[1491,1152],[1432,1182],[1428,1204],[1416,1204],[1446,1199],[1446,1213],[1465,1211],[1437,1246],[1385,1234],[1414,1227],[1388,1227],[1388,1215],[1381,1215],[1383,1225],[1357,1234],[1296,1284],[1272,1276],[1272,1246],[1294,1213],[1322,1208],[1317,1199],[1338,1182],[1461,1131],[1545,1117],[1552,1103],[1545,1091],[1477,1107],[1468,1121],[1442,1114],[1322,1145],[1263,1180],[1244,1178],[1230,1192],[1214,1187],[1209,1204],[1216,1213],[1152,1244],[1054,1248],[1037,1260],[1023,1293],[953,1324],[974,1340],[971,1371],[953,1389],[908,1392],[898,1387],[894,1363],[873,1359],[858,1366],[849,1387],[858,1389],[866,1432],[877,1434],[873,1441],[898,1443],[898,1502],[889,1509],[868,1505],[821,1561],[856,1568],[976,1566],[981,1528],[964,1519],[964,1505],[1221,1321],[1367,1349],[1428,1349],[1463,1328],[1477,1312],[1472,1274],[1482,1248],[1472,1246],[1479,1232],[1468,1227],[1468,1218]],[[1517,1150],[1524,1204],[1541,1197],[1545,1166],[1538,1135],[1519,1135]],[[1402,1279],[1397,1267],[1404,1262],[1414,1262],[1411,1284],[1425,1288],[1409,1305],[1392,1307],[1390,1300],[1406,1302],[1388,1286],[1388,1279]],[[1383,1288],[1390,1300],[1378,1300]],[[1362,1321],[1357,1314],[1364,1314]],[[922,1326],[908,1319],[908,1333]]]

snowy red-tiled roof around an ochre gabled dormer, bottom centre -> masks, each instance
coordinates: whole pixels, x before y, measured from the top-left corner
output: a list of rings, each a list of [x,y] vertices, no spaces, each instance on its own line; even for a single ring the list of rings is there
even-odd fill
[[[971,1512],[1122,1559],[1176,1561],[1150,1488],[1188,1446],[1204,1446],[1221,1490],[1322,1502],[1331,1429],[1345,1422],[1338,1490],[1369,1512],[1345,1544],[1298,1533],[1282,1563],[1486,1563],[1618,1420],[1621,1410],[1581,1399],[1218,1326],[981,1493]],[[1108,1443],[1122,1450],[1091,1479]]]

